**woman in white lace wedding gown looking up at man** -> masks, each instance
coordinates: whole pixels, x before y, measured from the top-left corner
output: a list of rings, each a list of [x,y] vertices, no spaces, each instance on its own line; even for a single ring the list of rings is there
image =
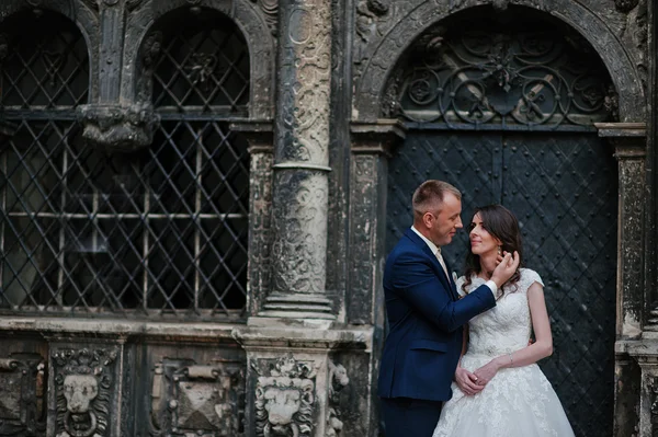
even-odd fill
[[[518,251],[517,218],[499,205],[476,209],[470,222],[464,296],[489,279],[498,256]],[[553,387],[536,365],[553,353],[544,284],[519,268],[499,291],[497,306],[475,317],[464,331],[453,398],[445,403],[433,437],[574,436]],[[536,341],[529,345],[531,329]]]

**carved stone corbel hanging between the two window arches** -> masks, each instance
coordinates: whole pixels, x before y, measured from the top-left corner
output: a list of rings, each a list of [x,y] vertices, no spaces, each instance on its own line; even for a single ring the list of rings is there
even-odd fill
[[[150,146],[159,116],[150,104],[81,105],[82,136],[106,150],[134,151]]]

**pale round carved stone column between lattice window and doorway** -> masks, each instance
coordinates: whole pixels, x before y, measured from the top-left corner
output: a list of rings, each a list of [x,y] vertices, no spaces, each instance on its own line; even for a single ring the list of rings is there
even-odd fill
[[[259,315],[334,319],[326,294],[331,2],[280,4],[272,291]]]

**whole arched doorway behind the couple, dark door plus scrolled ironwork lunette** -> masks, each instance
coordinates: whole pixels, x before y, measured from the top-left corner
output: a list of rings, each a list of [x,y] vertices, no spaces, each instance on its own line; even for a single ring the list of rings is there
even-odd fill
[[[384,102],[409,129],[389,161],[387,248],[427,179],[462,189],[465,221],[475,206],[514,211],[525,265],[546,284],[555,353],[540,365],[579,436],[612,434],[617,177],[592,125],[614,117],[611,89],[595,51],[563,23],[481,8],[417,38]],[[466,242],[462,232],[446,251],[457,272]]]

